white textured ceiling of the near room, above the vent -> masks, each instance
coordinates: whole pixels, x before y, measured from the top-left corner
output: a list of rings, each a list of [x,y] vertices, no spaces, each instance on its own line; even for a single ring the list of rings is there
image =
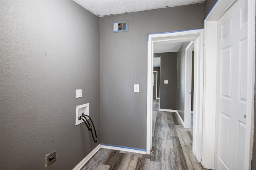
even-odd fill
[[[109,16],[204,2],[205,0],[73,0],[96,16]]]

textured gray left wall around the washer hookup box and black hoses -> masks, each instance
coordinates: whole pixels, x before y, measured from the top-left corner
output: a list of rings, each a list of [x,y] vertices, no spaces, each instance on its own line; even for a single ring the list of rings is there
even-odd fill
[[[54,150],[47,169],[70,170],[100,144],[99,18],[66,0],[0,3],[1,170],[45,169]],[[97,143],[75,126],[84,103]]]

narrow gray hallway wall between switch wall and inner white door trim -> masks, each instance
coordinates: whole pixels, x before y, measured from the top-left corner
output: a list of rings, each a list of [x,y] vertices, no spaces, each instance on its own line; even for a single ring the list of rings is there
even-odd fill
[[[182,43],[178,50],[177,61],[177,111],[184,121],[184,100],[185,100],[185,49],[189,42]]]

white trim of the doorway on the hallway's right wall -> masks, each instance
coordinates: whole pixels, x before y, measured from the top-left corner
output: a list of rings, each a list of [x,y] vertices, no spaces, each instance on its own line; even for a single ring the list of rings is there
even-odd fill
[[[192,50],[194,42],[190,42],[185,49],[185,98],[184,98],[184,125],[191,127],[191,98],[192,98]]]

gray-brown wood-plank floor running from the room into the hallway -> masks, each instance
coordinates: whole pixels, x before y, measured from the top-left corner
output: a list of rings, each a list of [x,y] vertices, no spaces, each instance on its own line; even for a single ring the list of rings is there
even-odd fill
[[[100,148],[82,170],[204,170],[192,152],[192,136],[178,115],[158,111],[153,100],[150,155]]]

